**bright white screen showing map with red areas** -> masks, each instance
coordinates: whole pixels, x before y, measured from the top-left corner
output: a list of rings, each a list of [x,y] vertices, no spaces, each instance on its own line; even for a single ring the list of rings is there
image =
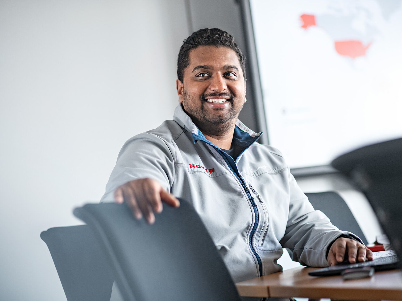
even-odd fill
[[[250,0],[269,144],[291,168],[402,136],[402,0]]]

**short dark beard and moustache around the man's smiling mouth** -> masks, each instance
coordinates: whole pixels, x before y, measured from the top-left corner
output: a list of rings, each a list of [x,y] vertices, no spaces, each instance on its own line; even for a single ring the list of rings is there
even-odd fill
[[[228,100],[226,100],[227,102],[229,102],[229,110],[225,108],[217,108],[214,110],[207,108],[206,97],[219,96],[230,97]],[[229,93],[211,93],[207,95],[203,94],[199,97],[199,100],[195,100],[191,99],[191,96],[189,96],[186,90],[183,89],[183,109],[191,117],[191,120],[193,120],[194,124],[199,128],[199,130],[201,130],[201,132],[205,131],[209,134],[224,134],[234,127],[240,111],[243,108],[244,101],[241,101],[241,106],[238,108],[236,108],[234,104],[237,104],[240,101],[241,100],[238,100],[233,94]],[[194,106],[194,104],[197,103],[200,103],[201,107],[199,107],[198,105]]]

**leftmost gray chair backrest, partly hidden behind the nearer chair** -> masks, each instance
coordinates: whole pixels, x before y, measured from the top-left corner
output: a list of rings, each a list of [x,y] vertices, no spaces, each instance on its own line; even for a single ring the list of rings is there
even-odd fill
[[[109,301],[114,277],[103,249],[87,225],[41,233],[68,301]]]

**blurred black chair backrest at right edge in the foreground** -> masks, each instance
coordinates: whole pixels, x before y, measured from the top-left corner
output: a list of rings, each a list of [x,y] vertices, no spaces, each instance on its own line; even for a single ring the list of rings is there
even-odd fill
[[[363,191],[402,259],[402,138],[357,148],[331,165]]]

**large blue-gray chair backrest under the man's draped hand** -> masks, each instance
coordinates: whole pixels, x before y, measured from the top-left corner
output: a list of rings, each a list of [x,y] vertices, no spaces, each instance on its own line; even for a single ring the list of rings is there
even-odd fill
[[[91,226],[125,301],[240,300],[222,257],[192,205],[164,206],[154,224],[125,204],[87,204],[74,215]]]

